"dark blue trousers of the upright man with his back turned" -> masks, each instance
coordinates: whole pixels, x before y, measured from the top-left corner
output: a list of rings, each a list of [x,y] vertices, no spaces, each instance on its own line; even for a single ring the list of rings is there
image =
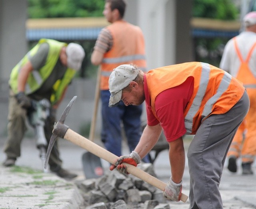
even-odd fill
[[[141,114],[142,104],[139,106],[125,106],[122,101],[115,107],[108,107],[110,92],[101,91],[102,101],[102,133],[101,139],[106,149],[116,156],[122,155],[122,126],[127,138],[128,147],[132,152],[140,141],[142,134]],[[144,162],[150,162],[147,155]]]

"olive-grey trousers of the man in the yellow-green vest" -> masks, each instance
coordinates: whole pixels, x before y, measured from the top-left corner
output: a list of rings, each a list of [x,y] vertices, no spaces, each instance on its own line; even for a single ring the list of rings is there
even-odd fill
[[[22,108],[18,104],[14,96],[14,93],[12,92],[12,90],[10,90],[8,125],[7,125],[8,138],[4,144],[4,152],[9,158],[20,157],[20,153],[21,153],[20,145],[24,137],[24,134],[27,130],[26,117],[27,117],[27,110]],[[50,115],[45,122],[44,134],[48,144],[52,136],[54,122],[55,122],[55,117],[52,115]],[[31,157],[36,158],[37,156],[31,156]],[[60,160],[57,140],[50,154],[49,165],[50,165],[50,170],[53,172],[59,170],[62,166],[62,160]]]

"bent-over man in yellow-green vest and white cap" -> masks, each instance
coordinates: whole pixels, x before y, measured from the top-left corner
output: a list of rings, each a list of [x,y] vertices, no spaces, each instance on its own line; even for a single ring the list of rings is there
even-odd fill
[[[31,107],[31,99],[48,99],[51,103],[50,116],[46,118],[44,126],[44,134],[49,144],[57,108],[72,78],[81,68],[84,56],[84,49],[77,43],[40,39],[12,69],[9,80],[8,139],[4,146],[7,159],[4,166],[14,166],[20,156],[20,144],[26,131],[26,117]],[[49,165],[50,170],[60,177],[72,179],[77,176],[62,168],[56,143],[50,154]]]

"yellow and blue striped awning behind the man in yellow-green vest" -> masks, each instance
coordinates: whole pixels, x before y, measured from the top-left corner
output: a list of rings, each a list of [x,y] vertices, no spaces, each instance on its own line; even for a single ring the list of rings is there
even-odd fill
[[[100,30],[109,25],[104,17],[98,18],[43,18],[26,21],[26,38],[56,40],[95,40]]]

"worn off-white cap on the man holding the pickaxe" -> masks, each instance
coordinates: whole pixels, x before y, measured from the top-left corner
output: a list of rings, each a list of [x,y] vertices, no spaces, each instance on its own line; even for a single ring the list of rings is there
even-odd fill
[[[111,93],[108,106],[116,106],[122,99],[122,90],[133,81],[139,74],[139,69],[133,65],[119,65],[116,67],[108,80],[109,91]]]

